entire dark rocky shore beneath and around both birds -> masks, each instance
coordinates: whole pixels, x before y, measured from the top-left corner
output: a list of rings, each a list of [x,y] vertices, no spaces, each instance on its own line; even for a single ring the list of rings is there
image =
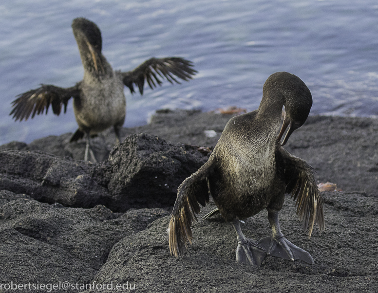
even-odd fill
[[[177,187],[207,161],[230,117],[157,111],[150,124],[123,128],[121,144],[111,130],[96,137],[96,164],[81,161],[85,142],[70,144],[70,133],[0,146],[0,292],[11,283],[30,284],[23,292],[378,292],[376,119],[310,116],[285,146],[319,183],[341,189],[322,193],[326,230],[311,239],[289,196],[280,213],[285,237],[314,265],[236,263],[235,231],[219,216],[193,226],[183,258],[170,256]],[[248,238],[271,233],[264,211],[245,222]]]

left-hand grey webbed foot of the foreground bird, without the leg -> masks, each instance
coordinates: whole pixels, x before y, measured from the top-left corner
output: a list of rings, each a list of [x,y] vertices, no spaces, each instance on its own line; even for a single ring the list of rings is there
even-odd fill
[[[265,250],[256,241],[246,238],[238,242],[238,247],[236,248],[236,260],[238,262],[249,263],[259,267],[265,256]]]

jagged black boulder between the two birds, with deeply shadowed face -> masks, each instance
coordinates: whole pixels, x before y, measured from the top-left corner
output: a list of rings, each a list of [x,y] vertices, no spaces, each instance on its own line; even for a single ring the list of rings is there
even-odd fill
[[[109,159],[95,167],[96,182],[111,194],[109,207],[172,206],[177,187],[208,160],[189,145],[173,145],[149,134],[132,134],[117,144]]]

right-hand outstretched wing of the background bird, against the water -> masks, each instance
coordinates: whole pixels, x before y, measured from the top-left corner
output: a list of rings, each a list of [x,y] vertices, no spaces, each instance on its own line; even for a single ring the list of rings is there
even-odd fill
[[[179,79],[188,81],[196,70],[191,61],[180,57],[151,58],[137,68],[129,72],[123,72],[123,83],[129,87],[130,92],[134,91],[134,84],[138,86],[139,92],[143,94],[144,81],[146,80],[153,90],[157,85],[163,83],[164,77],[170,82],[180,83]]]

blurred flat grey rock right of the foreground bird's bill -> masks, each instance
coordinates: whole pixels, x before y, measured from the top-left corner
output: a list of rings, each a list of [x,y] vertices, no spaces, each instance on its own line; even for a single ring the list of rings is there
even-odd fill
[[[378,120],[314,116],[286,149],[305,159],[320,182],[378,196]]]

